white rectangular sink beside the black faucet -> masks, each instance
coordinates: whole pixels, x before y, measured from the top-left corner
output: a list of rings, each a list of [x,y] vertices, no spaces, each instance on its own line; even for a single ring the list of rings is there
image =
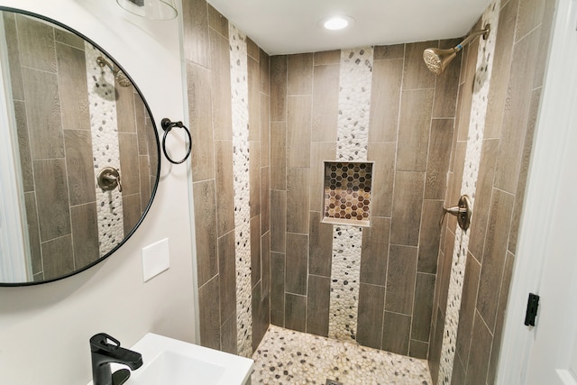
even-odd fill
[[[142,354],[143,364],[126,385],[242,385],[251,376],[248,358],[162,335],[144,335],[130,350]],[[125,368],[111,367],[113,372]]]

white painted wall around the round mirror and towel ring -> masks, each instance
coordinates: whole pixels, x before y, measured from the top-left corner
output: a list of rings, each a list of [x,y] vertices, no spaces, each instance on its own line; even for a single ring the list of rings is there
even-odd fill
[[[178,20],[140,20],[114,0],[0,0],[0,5],[45,14],[84,33],[131,75],[157,125],[163,117],[185,121]],[[99,332],[124,346],[149,331],[194,342],[188,167],[170,167],[163,156],[161,164],[151,210],[119,251],[65,280],[0,288],[0,384],[86,384],[88,339]],[[166,237],[170,269],[143,283],[141,249]]]

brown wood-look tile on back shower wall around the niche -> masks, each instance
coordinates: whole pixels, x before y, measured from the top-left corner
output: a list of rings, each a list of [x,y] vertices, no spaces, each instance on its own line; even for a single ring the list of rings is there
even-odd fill
[[[435,79],[421,59],[431,46],[439,41],[374,50],[357,330],[360,344],[422,358],[460,70],[457,60]],[[338,145],[340,60],[340,50],[270,59],[270,322],[316,335],[328,335],[333,226],[320,220],[323,160]]]

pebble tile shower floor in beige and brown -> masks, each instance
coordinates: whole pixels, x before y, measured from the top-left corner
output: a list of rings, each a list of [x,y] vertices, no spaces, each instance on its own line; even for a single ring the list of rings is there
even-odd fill
[[[431,385],[426,360],[270,325],[254,360],[252,385]]]

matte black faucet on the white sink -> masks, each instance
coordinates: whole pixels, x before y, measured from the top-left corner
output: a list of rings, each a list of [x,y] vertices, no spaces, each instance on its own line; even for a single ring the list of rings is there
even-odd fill
[[[110,370],[110,363],[117,362],[133,371],[142,366],[142,354],[120,347],[120,342],[110,335],[98,333],[90,338],[93,385],[121,385],[130,377],[128,369]]]

